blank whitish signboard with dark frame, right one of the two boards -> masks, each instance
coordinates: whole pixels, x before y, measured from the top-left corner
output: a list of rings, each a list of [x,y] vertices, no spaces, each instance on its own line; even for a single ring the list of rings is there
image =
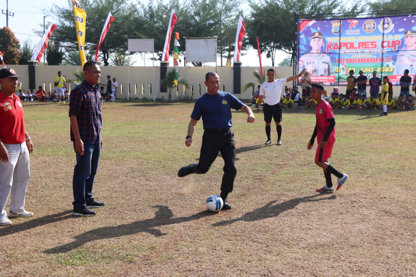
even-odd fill
[[[187,37],[185,41],[186,61],[217,61],[216,37]]]

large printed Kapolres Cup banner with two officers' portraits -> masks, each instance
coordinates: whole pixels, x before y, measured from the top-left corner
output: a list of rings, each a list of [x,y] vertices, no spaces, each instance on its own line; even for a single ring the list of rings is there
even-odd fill
[[[416,74],[416,15],[336,20],[299,20],[298,72],[312,82],[347,85],[349,71],[398,82]]]

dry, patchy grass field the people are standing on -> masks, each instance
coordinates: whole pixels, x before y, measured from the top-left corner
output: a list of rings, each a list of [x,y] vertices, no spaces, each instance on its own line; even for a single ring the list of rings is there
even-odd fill
[[[184,144],[193,103],[104,103],[93,192],[106,206],[83,218],[72,216],[68,105],[24,108],[35,216],[0,227],[0,276],[416,276],[416,111],[334,112],[330,163],[350,176],[334,194],[315,192],[313,110],[284,110],[281,146],[275,128],[263,144],[262,115],[248,124],[233,111],[233,208],[210,213],[221,157],[177,177],[199,157],[201,122]]]

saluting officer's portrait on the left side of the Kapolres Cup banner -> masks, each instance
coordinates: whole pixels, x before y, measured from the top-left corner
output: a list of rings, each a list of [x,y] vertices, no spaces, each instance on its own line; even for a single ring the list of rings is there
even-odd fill
[[[309,44],[310,47],[312,47],[312,50],[300,57],[298,73],[306,68],[312,81],[314,81],[313,76],[335,76],[331,59],[327,54],[322,53],[321,51],[322,45],[324,44],[322,33],[312,32]],[[329,86],[331,84],[331,82],[324,82],[324,86]]]

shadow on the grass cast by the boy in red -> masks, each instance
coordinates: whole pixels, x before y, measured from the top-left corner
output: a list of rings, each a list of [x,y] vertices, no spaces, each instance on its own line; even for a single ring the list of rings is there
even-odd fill
[[[280,213],[282,213],[284,211],[289,211],[289,210],[295,208],[300,203],[316,202],[316,201],[323,201],[323,200],[332,200],[332,199],[337,198],[334,194],[332,194],[332,196],[329,196],[329,197],[315,199],[315,197],[321,196],[321,195],[322,194],[314,194],[314,195],[311,195],[311,196],[295,198],[295,199],[285,201],[285,202],[282,202],[282,203],[277,203],[277,204],[275,204],[277,202],[277,200],[270,201],[265,206],[262,206],[258,209],[255,209],[254,211],[250,211],[250,212],[244,214],[243,216],[241,216],[240,218],[220,221],[220,222],[214,223],[212,226],[226,226],[226,225],[230,225],[230,224],[232,224],[236,221],[257,221],[257,220],[262,220],[262,219],[265,219],[265,218],[271,218],[271,217],[278,216]],[[275,204],[275,205],[273,205],[273,204]]]

